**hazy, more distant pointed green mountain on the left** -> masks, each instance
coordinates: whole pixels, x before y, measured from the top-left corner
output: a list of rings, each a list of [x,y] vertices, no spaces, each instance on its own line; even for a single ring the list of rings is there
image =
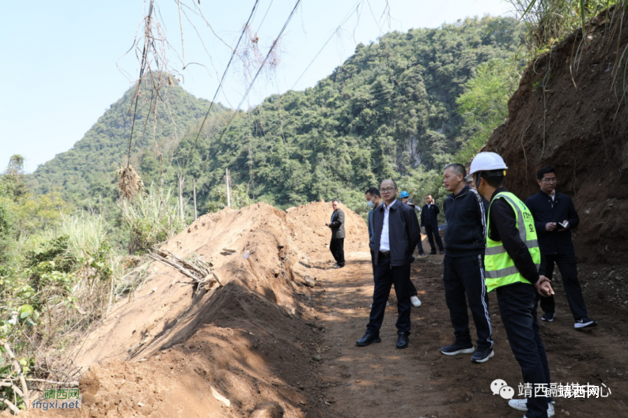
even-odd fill
[[[195,98],[172,77],[167,79],[158,99],[155,94],[151,98],[147,86],[140,91],[130,162],[138,166],[146,160],[147,170],[160,171],[162,160],[167,167],[181,138],[209,108],[208,100]],[[129,88],[73,148],[40,165],[29,176],[33,190],[46,194],[60,188],[63,198],[78,207],[94,205],[98,199],[111,201],[116,196],[116,170],[127,161],[136,91],[137,86]],[[156,111],[150,111],[149,103]],[[212,113],[214,109],[224,111],[221,105]]]

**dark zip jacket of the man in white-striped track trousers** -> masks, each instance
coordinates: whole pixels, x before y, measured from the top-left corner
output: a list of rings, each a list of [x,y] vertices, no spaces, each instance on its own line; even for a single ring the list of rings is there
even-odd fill
[[[447,219],[445,249],[447,256],[484,255],[488,201],[475,189],[465,186],[458,195],[447,196],[442,203]]]

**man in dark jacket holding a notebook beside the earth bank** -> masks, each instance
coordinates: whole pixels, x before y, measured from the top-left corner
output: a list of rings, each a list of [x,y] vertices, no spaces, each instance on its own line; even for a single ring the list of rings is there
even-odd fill
[[[587,306],[578,283],[576,251],[571,242],[571,229],[580,223],[578,213],[566,194],[556,192],[558,178],[552,167],[543,167],[537,172],[537,183],[541,189],[525,201],[537,229],[539,247],[545,258],[545,275],[552,279],[554,263],[562,275],[562,285],[574,315],[576,328],[595,327],[597,321],[588,318]],[[555,318],[554,297],[541,297],[542,320],[552,322]]]

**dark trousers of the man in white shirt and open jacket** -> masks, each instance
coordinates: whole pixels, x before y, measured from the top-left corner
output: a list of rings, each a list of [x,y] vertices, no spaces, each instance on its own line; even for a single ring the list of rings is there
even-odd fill
[[[397,294],[397,330],[410,332],[410,265],[393,267],[390,265],[390,258],[378,257],[375,266],[375,288],[373,289],[373,307],[371,316],[368,318],[366,331],[374,335],[380,334],[382,322],[384,322],[384,311],[386,302],[390,295],[391,286],[395,286]]]

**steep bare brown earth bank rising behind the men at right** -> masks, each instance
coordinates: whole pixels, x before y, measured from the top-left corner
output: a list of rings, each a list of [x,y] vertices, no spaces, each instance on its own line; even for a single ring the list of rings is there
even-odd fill
[[[558,171],[558,190],[574,199],[581,219],[578,258],[590,263],[628,260],[626,45],[628,17],[621,22],[611,9],[588,24],[584,40],[578,30],[541,56],[485,148],[504,157],[507,187],[523,200],[538,192],[538,169]]]

